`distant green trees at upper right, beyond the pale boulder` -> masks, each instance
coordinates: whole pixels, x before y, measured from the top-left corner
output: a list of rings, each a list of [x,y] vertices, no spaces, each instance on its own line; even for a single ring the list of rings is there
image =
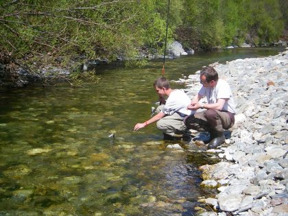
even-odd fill
[[[186,8],[184,22],[176,32],[179,40],[196,49],[240,45],[244,41],[254,45],[276,42],[283,34],[287,16],[285,10],[280,10],[278,0],[195,0],[183,3]],[[285,1],[280,0],[280,3],[287,8]]]

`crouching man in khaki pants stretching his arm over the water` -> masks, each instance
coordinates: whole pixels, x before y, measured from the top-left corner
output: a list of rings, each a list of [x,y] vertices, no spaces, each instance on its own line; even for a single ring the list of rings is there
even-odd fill
[[[160,98],[168,96],[165,105],[160,106],[158,114],[144,123],[137,123],[134,130],[144,128],[150,123],[157,121],[157,128],[164,134],[164,139],[183,139],[189,141],[191,137],[186,125],[183,122],[184,117],[191,115],[194,111],[188,110],[187,106],[191,103],[191,99],[184,91],[171,89],[169,81],[165,77],[159,77],[154,82],[154,88]]]

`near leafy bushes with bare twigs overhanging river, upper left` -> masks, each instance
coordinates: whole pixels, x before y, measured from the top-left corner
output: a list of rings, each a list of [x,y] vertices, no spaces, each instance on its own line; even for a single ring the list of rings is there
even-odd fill
[[[10,0],[0,3],[0,63],[38,72],[56,56],[129,58],[165,40],[167,1]],[[165,5],[166,8],[163,7]],[[176,11],[176,10],[174,10]],[[173,15],[173,14],[172,14]],[[166,17],[166,16],[165,16]],[[173,16],[174,22],[177,15]],[[169,31],[169,36],[172,36]]]

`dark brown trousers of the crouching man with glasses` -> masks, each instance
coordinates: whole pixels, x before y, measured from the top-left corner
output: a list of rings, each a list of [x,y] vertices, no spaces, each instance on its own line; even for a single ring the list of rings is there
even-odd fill
[[[224,132],[234,125],[234,115],[230,112],[208,109],[202,112],[195,112],[184,119],[189,129],[208,132]]]

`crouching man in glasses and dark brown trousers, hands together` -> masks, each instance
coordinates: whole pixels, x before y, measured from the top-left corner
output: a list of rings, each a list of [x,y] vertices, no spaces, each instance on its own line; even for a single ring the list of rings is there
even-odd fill
[[[230,86],[225,80],[220,80],[213,67],[205,67],[200,72],[200,82],[203,85],[187,107],[189,110],[204,108],[184,119],[187,128],[197,131],[208,131],[211,141],[208,149],[218,147],[225,141],[224,130],[235,123],[235,103]],[[207,98],[208,104],[200,104],[202,97]]]

